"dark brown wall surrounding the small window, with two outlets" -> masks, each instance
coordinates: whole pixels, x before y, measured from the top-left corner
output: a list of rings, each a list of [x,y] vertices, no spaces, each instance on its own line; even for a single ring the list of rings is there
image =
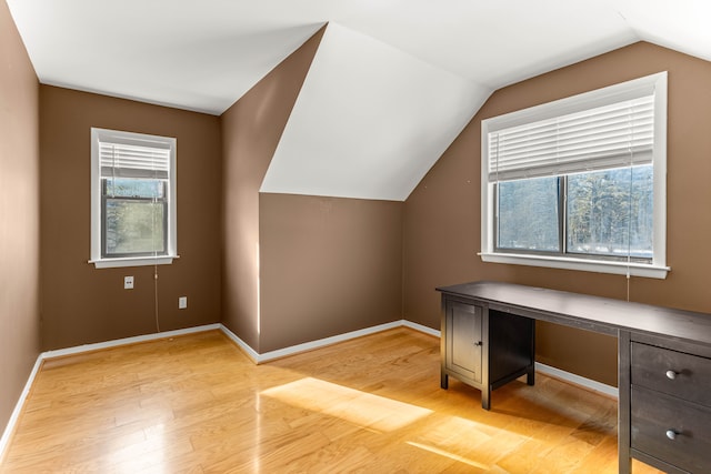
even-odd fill
[[[154,333],[152,266],[90,263],[90,129],[178,139],[178,254],[159,265],[161,331],[220,321],[221,149],[218,117],[40,87],[41,311],[46,350]],[[134,289],[123,290],[123,276]],[[178,310],[178,297],[188,309]]]

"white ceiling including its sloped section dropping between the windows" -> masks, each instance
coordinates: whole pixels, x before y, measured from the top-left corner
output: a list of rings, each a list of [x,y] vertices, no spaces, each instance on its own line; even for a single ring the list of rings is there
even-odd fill
[[[40,82],[221,114],[329,24],[264,192],[404,200],[494,90],[644,40],[711,61],[709,0],[6,0]]]

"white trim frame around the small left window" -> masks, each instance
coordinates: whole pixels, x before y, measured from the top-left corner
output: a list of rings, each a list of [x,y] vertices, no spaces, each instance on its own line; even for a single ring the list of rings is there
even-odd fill
[[[168,204],[168,253],[158,256],[102,258],[101,256],[101,167],[99,162],[99,141],[107,138],[119,138],[137,142],[158,142],[170,147],[169,204]],[[91,128],[91,258],[97,269],[121,266],[166,265],[178,259],[178,221],[176,191],[176,153],[174,138],[148,135],[117,130]]]

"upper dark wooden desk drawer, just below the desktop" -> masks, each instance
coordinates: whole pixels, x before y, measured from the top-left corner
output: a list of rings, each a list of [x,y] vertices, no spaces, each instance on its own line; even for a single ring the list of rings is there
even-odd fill
[[[711,359],[633,342],[632,385],[711,406]]]

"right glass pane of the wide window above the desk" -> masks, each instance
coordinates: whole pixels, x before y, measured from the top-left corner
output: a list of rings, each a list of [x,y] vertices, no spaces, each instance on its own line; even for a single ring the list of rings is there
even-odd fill
[[[652,183],[651,164],[570,175],[568,252],[651,259]]]

